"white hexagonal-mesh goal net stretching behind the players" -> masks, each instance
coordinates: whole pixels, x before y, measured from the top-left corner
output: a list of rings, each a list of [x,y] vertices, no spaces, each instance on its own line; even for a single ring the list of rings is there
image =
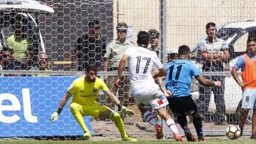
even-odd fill
[[[214,100],[216,96],[212,92],[204,96],[202,102],[199,95],[205,91],[200,92],[196,80],[191,85],[191,94],[200,112],[205,114],[204,133],[224,136],[227,126],[218,123],[221,122],[217,120],[219,110],[223,111],[227,124],[239,123],[242,90],[230,70],[238,57],[246,53],[248,39],[255,36],[254,9],[252,0],[0,0],[0,137],[81,139],[84,131],[72,116],[68,103],[57,122],[50,122],[50,115],[56,111],[72,81],[84,75],[89,63],[97,66],[99,78],[110,79],[105,82],[114,90],[111,82],[117,76],[118,65],[111,59],[124,53],[117,49],[123,46],[117,46],[116,41],[120,32],[117,26],[121,22],[126,23],[126,44],[137,45],[139,30],[153,32],[150,30],[155,29],[151,45],[163,64],[171,48],[178,50],[179,45],[185,44],[191,48],[191,60],[200,69],[203,69],[200,41],[207,37],[206,24],[217,24],[216,36],[227,44],[229,59],[218,67],[221,71],[202,72],[202,75],[223,78],[224,100]],[[104,67],[106,56],[108,63]],[[38,71],[41,64],[43,71]],[[138,138],[154,139],[154,127],[142,118],[130,94],[129,72],[125,71],[123,76],[123,88],[114,94],[123,105],[135,111],[133,117],[123,117],[126,131]],[[102,92],[97,102],[117,111]],[[148,109],[151,110],[150,106]],[[170,109],[166,109],[175,119]],[[163,126],[166,138],[172,137],[165,122],[156,112],[153,114]],[[251,134],[251,118],[252,111],[248,114],[244,135]],[[193,121],[190,117],[187,120],[196,134]],[[119,136],[110,120],[84,117],[84,121],[96,136]]]

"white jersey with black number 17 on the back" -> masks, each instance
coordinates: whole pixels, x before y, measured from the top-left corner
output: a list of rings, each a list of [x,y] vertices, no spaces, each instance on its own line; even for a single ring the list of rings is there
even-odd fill
[[[130,88],[132,91],[145,87],[145,85],[156,84],[152,71],[154,66],[157,69],[163,68],[163,64],[155,51],[150,51],[144,47],[130,47],[124,54],[129,56]]]

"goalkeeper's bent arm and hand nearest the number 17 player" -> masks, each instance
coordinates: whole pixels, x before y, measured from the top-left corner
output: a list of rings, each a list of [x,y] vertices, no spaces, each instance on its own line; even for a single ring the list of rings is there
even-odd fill
[[[123,106],[120,103],[120,101],[117,99],[117,97],[111,93],[110,90],[106,91],[105,93],[106,93],[106,96],[108,96],[115,103],[115,105],[117,105],[118,111],[122,111],[129,116],[134,115],[134,111],[127,109],[126,106]]]

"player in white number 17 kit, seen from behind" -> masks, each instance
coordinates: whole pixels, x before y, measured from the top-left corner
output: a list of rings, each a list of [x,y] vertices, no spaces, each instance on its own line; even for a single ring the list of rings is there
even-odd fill
[[[127,48],[120,60],[115,87],[121,88],[121,73],[123,72],[127,60],[129,60],[130,88],[132,90],[132,96],[143,117],[146,120],[149,120],[150,124],[156,128],[157,139],[163,137],[163,132],[160,125],[157,124],[156,119],[154,119],[150,111],[145,108],[148,103],[150,103],[153,110],[156,109],[157,114],[163,118],[167,127],[172,130],[175,140],[183,141],[182,137],[179,136],[175,122],[172,120],[172,117],[167,114],[167,111],[164,108],[164,106],[168,105],[167,99],[154,81],[154,78],[157,78],[157,76],[165,75],[166,71],[157,57],[157,54],[154,51],[147,49],[148,44],[150,44],[150,34],[141,30],[137,37],[138,47]],[[154,75],[152,75],[154,66],[159,70],[159,73],[154,73]]]

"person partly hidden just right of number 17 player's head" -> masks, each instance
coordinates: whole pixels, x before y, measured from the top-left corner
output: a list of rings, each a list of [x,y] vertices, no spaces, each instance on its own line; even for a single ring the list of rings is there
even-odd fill
[[[148,30],[148,33],[150,33],[150,44],[151,46],[148,48],[148,50],[156,51],[157,56],[159,56],[159,31],[156,29],[150,29]]]

